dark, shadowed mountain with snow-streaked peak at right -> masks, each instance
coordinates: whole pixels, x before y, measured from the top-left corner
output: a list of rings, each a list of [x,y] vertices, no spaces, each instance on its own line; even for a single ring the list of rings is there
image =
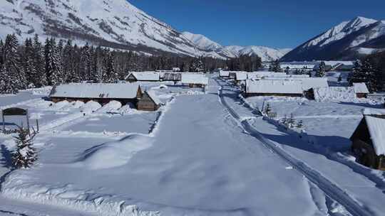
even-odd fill
[[[359,16],[299,45],[282,60],[349,59],[384,48],[385,21]]]

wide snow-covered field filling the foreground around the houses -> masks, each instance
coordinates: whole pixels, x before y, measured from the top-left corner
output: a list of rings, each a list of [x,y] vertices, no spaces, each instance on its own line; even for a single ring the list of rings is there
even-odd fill
[[[41,129],[39,161],[28,170],[10,172],[14,141],[0,135],[0,215],[384,212],[383,173],[349,156],[361,110],[380,104],[247,98],[255,108],[268,102],[277,118],[302,119],[307,135],[299,139],[216,78],[206,92],[170,83],[142,87],[155,90],[165,106],[138,112],[116,103],[51,104],[43,90],[0,97],[0,107],[29,109]]]

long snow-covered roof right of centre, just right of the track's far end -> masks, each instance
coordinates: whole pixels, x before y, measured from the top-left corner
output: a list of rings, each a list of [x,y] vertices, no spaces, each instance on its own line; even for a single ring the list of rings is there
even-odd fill
[[[246,80],[247,93],[302,94],[299,80]]]

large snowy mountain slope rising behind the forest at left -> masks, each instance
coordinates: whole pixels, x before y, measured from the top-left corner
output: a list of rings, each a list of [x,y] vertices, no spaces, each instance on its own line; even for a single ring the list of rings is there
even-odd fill
[[[25,39],[37,33],[144,53],[221,57],[198,49],[174,28],[125,0],[1,0],[0,28],[1,38],[16,33]]]

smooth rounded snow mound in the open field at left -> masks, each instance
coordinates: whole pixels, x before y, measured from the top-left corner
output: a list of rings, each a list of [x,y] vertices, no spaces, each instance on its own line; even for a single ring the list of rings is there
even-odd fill
[[[130,161],[135,153],[149,148],[152,144],[153,140],[150,136],[133,134],[120,141],[113,141],[88,149],[74,165],[86,166],[91,170],[123,166]]]

